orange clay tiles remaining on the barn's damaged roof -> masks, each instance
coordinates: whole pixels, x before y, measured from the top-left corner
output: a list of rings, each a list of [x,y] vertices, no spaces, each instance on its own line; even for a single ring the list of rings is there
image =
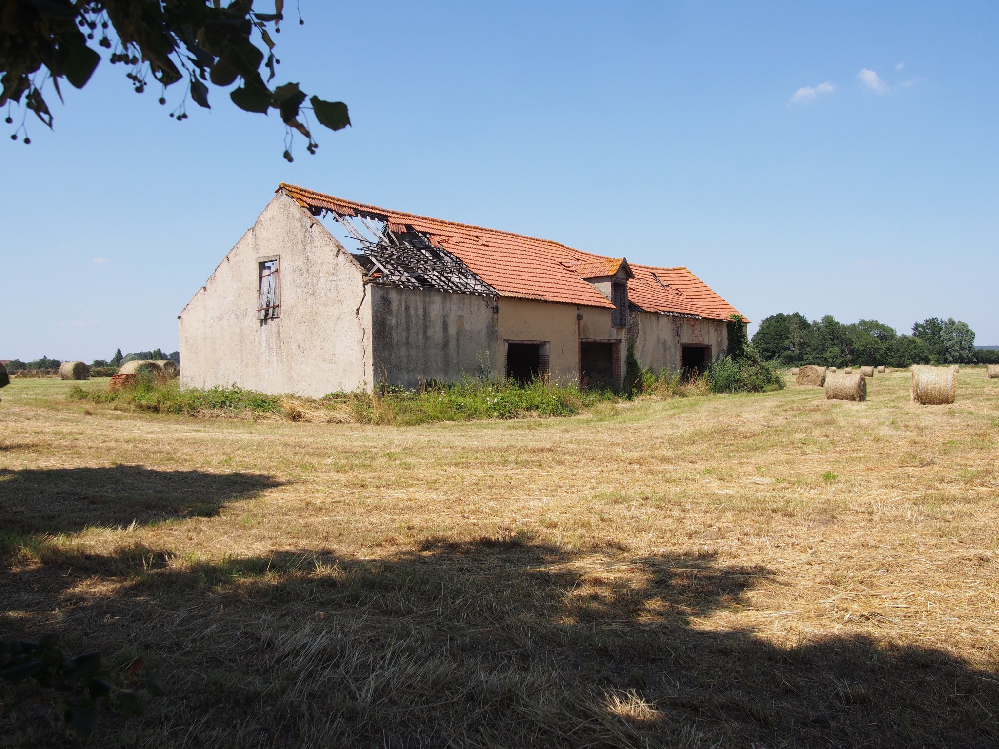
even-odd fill
[[[583,278],[613,276],[623,259],[584,253],[550,240],[390,211],[295,185],[281,183],[278,190],[284,190],[306,208],[325,208],[343,216],[378,217],[394,231],[413,227],[427,234],[435,245],[456,255],[503,297],[613,309],[607,298]],[[736,312],[685,268],[628,265],[634,274],[628,281],[628,299],[646,312],[680,313],[711,320],[725,320]]]

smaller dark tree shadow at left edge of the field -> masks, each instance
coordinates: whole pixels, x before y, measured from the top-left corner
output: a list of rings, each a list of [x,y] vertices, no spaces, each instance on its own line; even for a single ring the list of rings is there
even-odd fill
[[[102,468],[0,468],[0,517],[12,533],[72,533],[88,525],[128,525],[214,515],[226,502],[281,485],[257,473]]]

